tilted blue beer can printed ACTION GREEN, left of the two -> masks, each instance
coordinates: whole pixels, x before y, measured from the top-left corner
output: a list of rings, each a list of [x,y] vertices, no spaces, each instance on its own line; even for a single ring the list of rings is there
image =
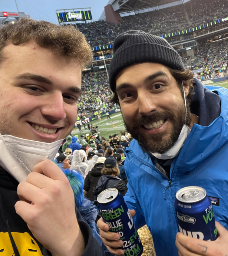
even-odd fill
[[[108,188],[98,195],[98,209],[110,232],[119,233],[124,256],[140,256],[143,246],[123,196],[116,188]]]

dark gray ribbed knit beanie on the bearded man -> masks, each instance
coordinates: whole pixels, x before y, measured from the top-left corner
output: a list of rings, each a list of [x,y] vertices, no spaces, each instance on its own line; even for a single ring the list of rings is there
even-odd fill
[[[155,62],[173,69],[184,69],[181,56],[165,39],[140,30],[130,30],[116,37],[113,53],[109,65],[109,85],[113,92],[118,73],[136,63]]]

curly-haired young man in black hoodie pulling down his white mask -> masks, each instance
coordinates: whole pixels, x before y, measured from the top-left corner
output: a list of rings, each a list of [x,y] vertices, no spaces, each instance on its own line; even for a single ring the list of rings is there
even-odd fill
[[[22,18],[0,28],[0,255],[103,255],[52,162],[92,56],[70,26]]]

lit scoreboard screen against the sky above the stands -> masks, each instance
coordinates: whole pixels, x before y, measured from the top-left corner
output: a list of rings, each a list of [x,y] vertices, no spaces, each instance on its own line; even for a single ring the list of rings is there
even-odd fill
[[[57,13],[59,23],[92,20],[91,11]]]

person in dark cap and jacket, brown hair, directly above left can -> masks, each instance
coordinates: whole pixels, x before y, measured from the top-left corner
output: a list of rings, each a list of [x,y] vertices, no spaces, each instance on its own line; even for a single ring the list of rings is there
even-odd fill
[[[108,157],[105,160],[105,166],[101,170],[102,176],[99,178],[95,193],[94,200],[98,195],[107,188],[116,188],[123,196],[128,190],[125,181],[118,177],[119,168],[114,157]]]

